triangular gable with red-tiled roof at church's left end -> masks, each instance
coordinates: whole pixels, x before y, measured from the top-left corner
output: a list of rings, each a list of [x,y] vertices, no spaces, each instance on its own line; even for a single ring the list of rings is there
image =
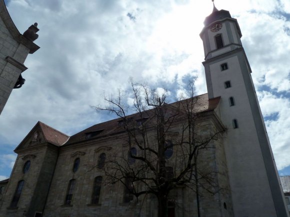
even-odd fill
[[[55,146],[61,146],[69,137],[46,124],[38,121],[30,130],[22,142],[15,148],[14,152],[27,149],[43,143],[51,143]]]

